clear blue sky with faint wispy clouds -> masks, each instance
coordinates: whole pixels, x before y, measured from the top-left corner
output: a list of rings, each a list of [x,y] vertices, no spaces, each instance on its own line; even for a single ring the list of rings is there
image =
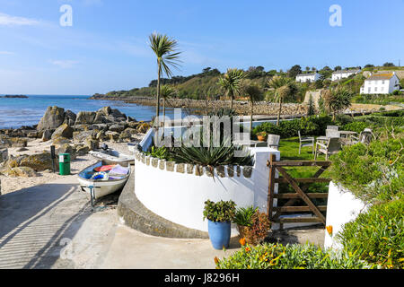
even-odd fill
[[[73,8],[62,27],[60,6]],[[329,7],[342,26],[329,25]],[[0,0],[0,93],[93,94],[156,77],[148,36],[179,41],[182,67],[404,63],[404,0]]]

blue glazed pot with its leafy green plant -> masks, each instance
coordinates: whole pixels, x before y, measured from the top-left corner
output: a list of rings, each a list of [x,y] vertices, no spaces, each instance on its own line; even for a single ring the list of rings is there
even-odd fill
[[[215,249],[229,248],[231,224],[235,214],[233,200],[214,203],[205,202],[204,220],[207,218],[209,239]]]

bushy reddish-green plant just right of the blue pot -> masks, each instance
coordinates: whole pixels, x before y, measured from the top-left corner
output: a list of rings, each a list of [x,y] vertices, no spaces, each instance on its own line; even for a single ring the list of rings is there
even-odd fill
[[[268,236],[270,222],[266,213],[260,213],[258,208],[250,206],[236,211],[234,222],[240,237],[250,245],[257,245]]]

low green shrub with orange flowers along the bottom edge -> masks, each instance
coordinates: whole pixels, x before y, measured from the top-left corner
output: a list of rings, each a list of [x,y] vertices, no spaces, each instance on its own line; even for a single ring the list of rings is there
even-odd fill
[[[217,269],[364,269],[355,254],[325,252],[314,245],[264,244],[244,246],[231,257],[215,260]]]

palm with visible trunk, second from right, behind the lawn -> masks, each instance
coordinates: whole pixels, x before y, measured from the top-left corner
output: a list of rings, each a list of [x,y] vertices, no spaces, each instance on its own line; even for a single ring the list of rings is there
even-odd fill
[[[282,102],[295,96],[297,86],[293,79],[278,75],[269,80],[268,86],[269,88],[273,88],[275,90],[275,99],[279,101],[279,110],[277,112],[277,126],[279,126],[280,115],[282,112]]]

